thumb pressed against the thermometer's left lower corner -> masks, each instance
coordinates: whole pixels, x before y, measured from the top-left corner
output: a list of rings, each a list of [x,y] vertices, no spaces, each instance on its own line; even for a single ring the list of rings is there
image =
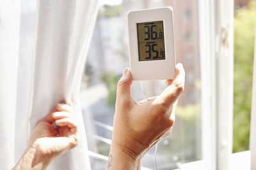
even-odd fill
[[[116,90],[116,101],[131,100],[132,75],[129,68],[125,67],[122,78],[118,81]]]

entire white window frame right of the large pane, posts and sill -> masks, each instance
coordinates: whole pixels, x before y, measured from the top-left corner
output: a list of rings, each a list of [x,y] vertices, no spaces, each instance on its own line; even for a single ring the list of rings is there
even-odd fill
[[[202,65],[202,160],[184,164],[185,168],[182,170],[255,170],[256,36],[250,150],[232,153],[234,0],[199,0],[199,18]]]

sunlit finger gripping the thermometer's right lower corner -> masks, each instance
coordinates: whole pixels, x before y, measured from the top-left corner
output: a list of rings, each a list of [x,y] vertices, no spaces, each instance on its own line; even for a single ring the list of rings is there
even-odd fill
[[[161,103],[167,108],[170,108],[184,90],[185,71],[182,64],[179,63],[176,65],[174,79],[169,80],[168,83],[170,85],[164,89],[154,103]]]

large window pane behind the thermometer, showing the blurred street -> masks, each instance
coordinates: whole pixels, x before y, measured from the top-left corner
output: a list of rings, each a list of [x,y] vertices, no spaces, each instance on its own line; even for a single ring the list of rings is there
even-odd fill
[[[123,0],[115,1],[115,4],[100,1],[100,4],[81,89],[89,149],[103,155],[109,150],[110,145],[106,141],[100,141],[92,136],[111,139],[111,131],[93,122],[113,125],[116,84],[124,67],[129,67],[127,12],[172,6],[176,57],[177,62],[184,64],[186,85],[179,99],[172,134],[159,143],[157,163],[159,169],[175,169],[180,163],[200,160],[202,155],[198,0],[175,3],[168,0]],[[166,84],[165,81],[143,81],[143,87],[148,96],[156,96],[164,90]],[[132,96],[136,101],[145,99],[138,81],[132,85]],[[154,148],[145,155],[142,166],[155,169]]]

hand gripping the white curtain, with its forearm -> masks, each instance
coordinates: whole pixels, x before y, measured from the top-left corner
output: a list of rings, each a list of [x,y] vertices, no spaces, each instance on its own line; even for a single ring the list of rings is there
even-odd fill
[[[58,103],[36,124],[29,138],[28,148],[13,169],[46,169],[54,158],[77,144],[78,131],[74,111],[70,105]]]

